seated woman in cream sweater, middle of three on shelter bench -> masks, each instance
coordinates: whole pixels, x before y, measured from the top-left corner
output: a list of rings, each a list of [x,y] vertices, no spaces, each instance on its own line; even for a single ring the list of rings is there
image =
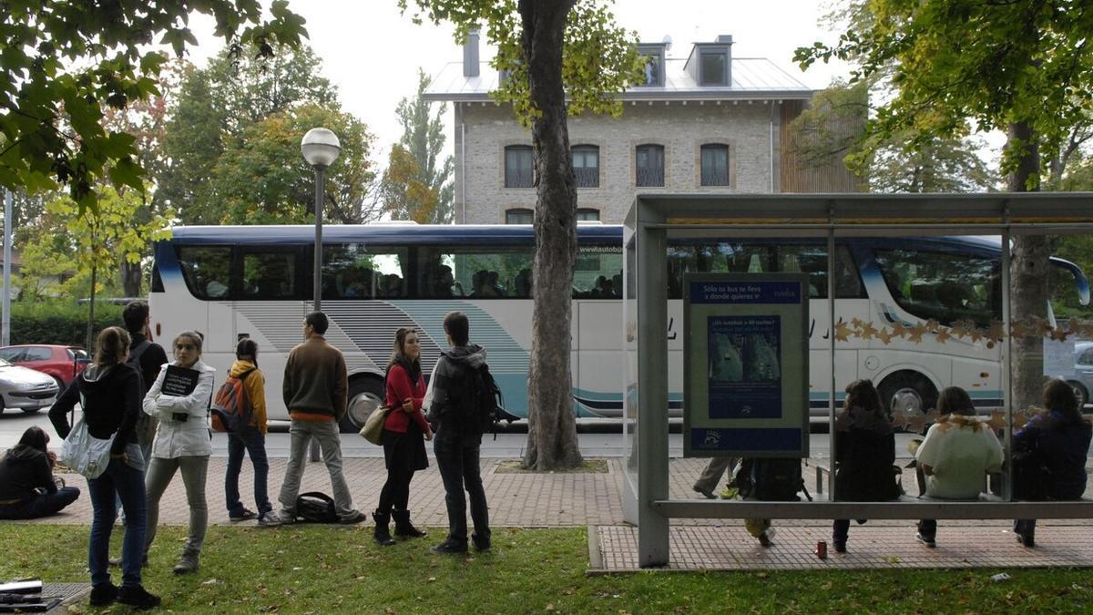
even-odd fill
[[[986,475],[1002,468],[1002,445],[990,427],[975,416],[967,391],[950,386],[938,397],[941,418],[930,427],[918,448],[918,469],[926,484],[925,497],[969,500],[979,497]],[[938,522],[918,522],[916,538],[936,547]]]

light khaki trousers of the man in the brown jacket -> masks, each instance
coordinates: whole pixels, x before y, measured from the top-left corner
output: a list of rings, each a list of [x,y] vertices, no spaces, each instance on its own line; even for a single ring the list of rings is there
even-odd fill
[[[304,477],[304,464],[307,462],[307,445],[312,438],[322,450],[322,463],[330,474],[330,489],[333,491],[334,510],[339,519],[356,514],[353,508],[353,497],[349,494],[345,475],[342,474],[341,437],[338,436],[338,422],[332,420],[299,420],[292,419],[289,428],[290,449],[289,466],[284,471],[284,483],[281,485],[281,517],[294,518],[296,514],[296,496],[299,495],[299,480]]]

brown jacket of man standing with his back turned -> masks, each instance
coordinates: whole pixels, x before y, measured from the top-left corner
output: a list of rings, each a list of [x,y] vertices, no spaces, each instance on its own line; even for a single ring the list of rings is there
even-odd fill
[[[345,358],[321,335],[313,335],[289,352],[282,395],[293,418],[341,420],[349,395]]]

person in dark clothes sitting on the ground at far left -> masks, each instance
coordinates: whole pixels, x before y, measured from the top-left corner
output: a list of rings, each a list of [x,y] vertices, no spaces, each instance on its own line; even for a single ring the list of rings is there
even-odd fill
[[[80,497],[75,487],[57,488],[47,452],[49,434],[32,427],[0,459],[0,519],[38,519],[57,514]]]

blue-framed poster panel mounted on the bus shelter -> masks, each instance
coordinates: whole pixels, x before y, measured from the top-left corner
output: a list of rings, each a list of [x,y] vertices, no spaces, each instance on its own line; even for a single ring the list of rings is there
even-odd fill
[[[683,283],[684,455],[808,456],[808,276]]]

